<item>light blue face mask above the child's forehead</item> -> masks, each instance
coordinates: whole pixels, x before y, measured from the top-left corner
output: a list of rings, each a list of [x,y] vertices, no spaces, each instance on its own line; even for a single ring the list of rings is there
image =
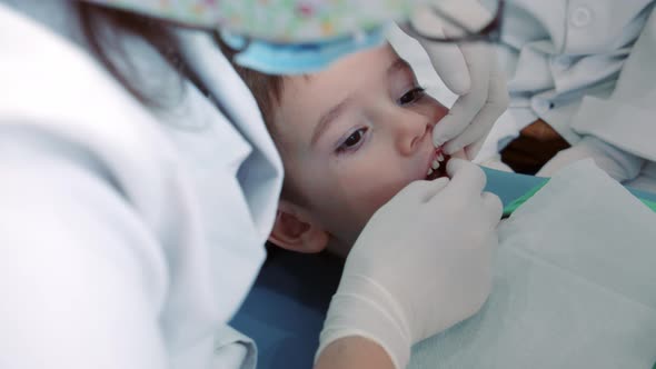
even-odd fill
[[[221,32],[221,38],[230,48],[240,50],[233,62],[241,67],[268,74],[300,74],[326,69],[345,54],[381,46],[385,27],[354,37],[298,44],[247,40],[226,31]]]

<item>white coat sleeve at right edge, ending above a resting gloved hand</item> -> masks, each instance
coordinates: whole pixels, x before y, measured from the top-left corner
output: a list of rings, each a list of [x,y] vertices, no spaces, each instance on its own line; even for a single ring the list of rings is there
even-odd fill
[[[586,97],[571,122],[578,133],[619,149],[615,152],[623,152],[620,161],[628,177],[638,174],[644,160],[656,161],[656,14],[650,11],[613,94],[608,99]]]

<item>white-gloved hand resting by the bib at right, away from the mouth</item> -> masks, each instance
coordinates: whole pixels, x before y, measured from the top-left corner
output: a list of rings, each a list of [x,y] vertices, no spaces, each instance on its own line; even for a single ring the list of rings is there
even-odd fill
[[[636,178],[644,162],[639,157],[586,136],[571,148],[558,152],[536,176],[551,177],[560,168],[583,159],[594,159],[597,167],[619,182]]]

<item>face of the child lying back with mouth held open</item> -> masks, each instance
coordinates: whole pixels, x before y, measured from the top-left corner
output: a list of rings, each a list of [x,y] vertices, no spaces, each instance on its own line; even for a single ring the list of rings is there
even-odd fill
[[[424,93],[389,46],[349,56],[309,77],[287,79],[274,110],[287,183],[302,200],[281,201],[281,213],[300,223],[290,226],[295,219],[288,217],[281,226],[279,216],[271,239],[286,242],[276,239],[282,227],[295,237],[305,236],[296,246],[314,242],[306,249],[288,248],[316,251],[329,238],[338,252],[355,242],[378,208],[427,177],[436,157],[433,127],[448,112]],[[321,231],[329,237],[312,233]]]

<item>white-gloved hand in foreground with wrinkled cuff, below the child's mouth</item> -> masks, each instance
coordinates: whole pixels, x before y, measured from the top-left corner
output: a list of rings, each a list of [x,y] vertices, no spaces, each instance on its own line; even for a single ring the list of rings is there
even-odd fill
[[[397,368],[410,346],[470,317],[491,285],[501,203],[485,173],[451,159],[451,178],[416,181],[380,208],[346,260],[317,357],[336,339],[380,345]]]

